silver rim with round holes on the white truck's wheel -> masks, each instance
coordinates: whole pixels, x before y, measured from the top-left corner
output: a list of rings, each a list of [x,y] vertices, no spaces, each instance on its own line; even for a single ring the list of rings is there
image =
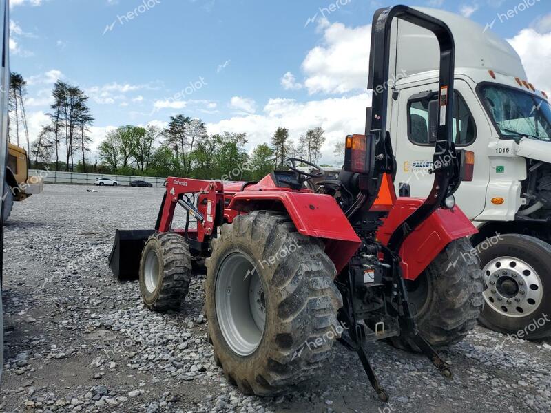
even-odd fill
[[[530,264],[516,257],[497,257],[484,267],[484,299],[506,317],[526,317],[543,301],[543,284]]]

